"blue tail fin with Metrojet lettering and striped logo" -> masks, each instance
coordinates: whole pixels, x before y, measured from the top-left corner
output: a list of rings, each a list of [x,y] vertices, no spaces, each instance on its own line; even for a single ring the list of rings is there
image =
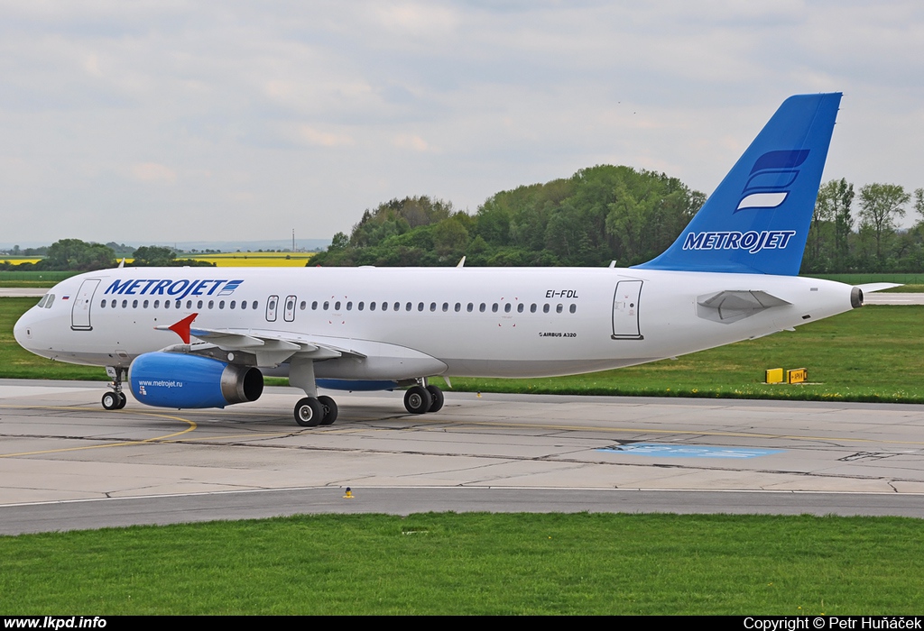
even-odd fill
[[[840,102],[786,99],[674,244],[637,267],[798,274]]]

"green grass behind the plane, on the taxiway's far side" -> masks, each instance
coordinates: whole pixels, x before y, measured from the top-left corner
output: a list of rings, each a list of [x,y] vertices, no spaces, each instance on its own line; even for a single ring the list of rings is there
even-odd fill
[[[13,339],[33,298],[0,300],[0,377],[101,379],[102,368],[51,362]],[[924,306],[866,306],[766,338],[676,361],[591,375],[543,379],[452,378],[453,389],[481,392],[924,402]],[[811,383],[763,384],[768,368],[807,368]],[[441,379],[433,383],[442,385]],[[267,383],[284,384],[282,380]]]

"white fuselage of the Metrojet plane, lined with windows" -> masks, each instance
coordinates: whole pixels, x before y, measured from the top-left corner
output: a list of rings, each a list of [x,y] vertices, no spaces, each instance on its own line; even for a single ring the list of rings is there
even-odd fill
[[[571,375],[839,314],[851,309],[851,290],[790,276],[637,268],[120,268],[58,283],[50,306],[31,308],[15,335],[44,357],[128,366],[179,342],[154,327],[198,314],[193,328],[356,351],[317,361],[318,377]],[[765,292],[786,304],[723,320],[702,305],[719,292]]]

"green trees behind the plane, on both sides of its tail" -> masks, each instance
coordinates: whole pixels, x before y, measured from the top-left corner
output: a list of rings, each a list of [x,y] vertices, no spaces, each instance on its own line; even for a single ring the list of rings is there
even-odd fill
[[[664,173],[600,165],[567,179],[519,186],[474,215],[429,196],[367,209],[334,235],[322,266],[637,265],[661,254],[706,196]],[[913,203],[912,203],[913,202]],[[908,207],[918,222],[899,230]],[[819,190],[803,273],[924,271],[924,189],[833,180]]]

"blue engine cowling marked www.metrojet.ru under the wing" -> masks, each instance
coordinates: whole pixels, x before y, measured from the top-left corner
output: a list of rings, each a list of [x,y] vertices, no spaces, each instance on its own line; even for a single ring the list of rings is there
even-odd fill
[[[263,375],[253,366],[178,352],[139,355],[128,384],[135,399],[158,408],[224,408],[263,393]]]

